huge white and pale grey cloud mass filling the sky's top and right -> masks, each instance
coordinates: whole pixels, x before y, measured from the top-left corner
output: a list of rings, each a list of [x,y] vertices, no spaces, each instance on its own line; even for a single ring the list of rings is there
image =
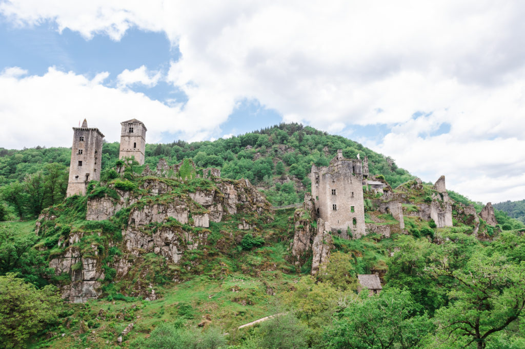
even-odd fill
[[[422,177],[446,174],[451,189],[484,201],[525,196],[524,10],[520,1],[488,0],[0,5],[17,25],[53,20],[86,38],[119,40],[132,26],[165,32],[182,54],[167,81],[188,97],[177,127],[192,139],[209,138],[243,99],[321,129],[395,125],[368,144]],[[140,69],[122,83],[149,82]],[[416,112],[431,114],[413,119]],[[449,134],[418,136],[442,123]]]

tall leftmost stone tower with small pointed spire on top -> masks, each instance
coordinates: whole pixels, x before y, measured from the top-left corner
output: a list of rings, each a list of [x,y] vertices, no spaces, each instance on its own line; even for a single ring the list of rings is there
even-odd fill
[[[89,181],[100,179],[103,138],[104,135],[98,128],[88,127],[86,119],[81,127],[73,127],[68,197],[75,194],[86,195]]]

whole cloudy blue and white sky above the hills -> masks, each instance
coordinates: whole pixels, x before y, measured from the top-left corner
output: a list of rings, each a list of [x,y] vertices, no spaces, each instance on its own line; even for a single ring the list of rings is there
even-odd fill
[[[0,147],[299,122],[481,202],[525,199],[522,1],[0,0]]]

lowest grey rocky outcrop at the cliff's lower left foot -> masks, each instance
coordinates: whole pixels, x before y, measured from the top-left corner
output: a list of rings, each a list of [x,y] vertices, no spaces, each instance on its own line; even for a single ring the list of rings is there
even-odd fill
[[[67,273],[71,283],[61,288],[62,298],[82,303],[100,296],[100,281],[104,278],[100,261],[96,258],[96,246],[91,246],[94,257],[84,257],[77,247],[68,248],[64,255],[51,259],[49,267],[55,269],[55,275]]]

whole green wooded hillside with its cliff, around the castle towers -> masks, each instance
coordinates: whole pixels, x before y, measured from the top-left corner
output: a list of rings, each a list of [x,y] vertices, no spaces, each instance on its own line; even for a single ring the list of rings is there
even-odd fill
[[[27,221],[0,224],[0,346],[525,346],[523,224],[497,214],[499,225],[481,220],[474,234],[471,202],[449,191],[454,224],[438,228],[416,214],[439,201],[432,184],[351,140],[288,124],[148,145],[151,170],[161,157],[182,160],[184,173],[169,175],[118,161],[116,143],[103,149],[101,181],[65,200],[68,149],[2,151],[4,216]],[[366,192],[366,223],[390,233],[344,239],[321,228],[330,254],[312,276],[312,254],[294,259],[291,246],[295,233],[320,226],[304,206],[270,205],[302,201],[311,164],[328,164],[337,149],[366,154],[371,175],[410,201],[405,229],[377,210],[381,195]],[[221,178],[196,178],[191,162],[222,168]],[[33,172],[22,176],[24,168]],[[358,295],[359,274],[380,275],[380,294]]]

